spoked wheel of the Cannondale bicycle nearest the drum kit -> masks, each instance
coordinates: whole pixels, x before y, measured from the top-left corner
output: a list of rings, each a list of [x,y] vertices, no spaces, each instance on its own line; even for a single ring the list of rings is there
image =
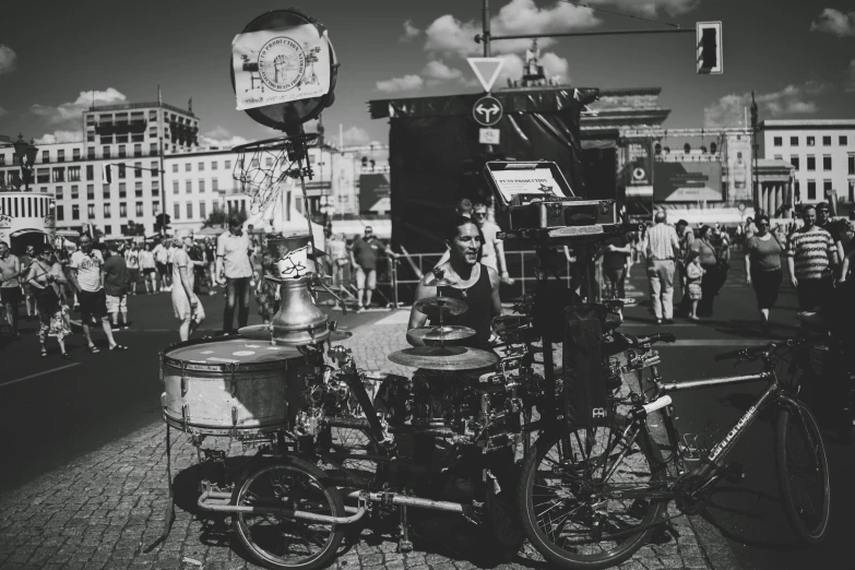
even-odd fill
[[[617,566],[655,532],[667,501],[644,494],[666,489],[665,465],[645,426],[631,446],[618,437],[626,425],[616,417],[605,428],[568,426],[542,437],[526,458],[519,494],[523,526],[554,565]]]

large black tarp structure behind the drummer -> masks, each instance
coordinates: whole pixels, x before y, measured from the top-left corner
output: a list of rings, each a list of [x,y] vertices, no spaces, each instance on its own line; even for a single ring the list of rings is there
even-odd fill
[[[443,250],[442,230],[456,199],[491,198],[480,174],[488,159],[554,161],[577,195],[584,197],[580,111],[597,94],[568,87],[495,93],[503,118],[495,127],[500,144],[491,155],[478,142],[480,127],[472,117],[482,95],[370,102],[371,118],[391,123],[393,247],[403,245],[414,253]]]

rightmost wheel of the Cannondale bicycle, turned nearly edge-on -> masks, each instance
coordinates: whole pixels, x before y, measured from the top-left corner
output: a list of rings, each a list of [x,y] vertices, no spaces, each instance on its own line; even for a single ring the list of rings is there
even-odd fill
[[[822,542],[831,511],[826,443],[814,414],[800,402],[777,414],[775,461],[784,508],[793,531],[807,544]]]

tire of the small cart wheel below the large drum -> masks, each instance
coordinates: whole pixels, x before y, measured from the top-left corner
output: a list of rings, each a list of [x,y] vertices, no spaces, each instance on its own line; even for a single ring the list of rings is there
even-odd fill
[[[306,502],[295,503],[293,496],[288,497],[287,501],[283,501],[282,497],[275,495],[275,486],[280,482],[272,483],[270,488],[263,483],[263,477],[280,471],[283,475],[290,475],[293,477],[302,477],[311,487],[310,495],[313,500],[318,502],[318,509],[316,512],[323,514],[330,514],[332,516],[345,516],[344,503],[339,489],[328,483],[326,475],[318,466],[290,456],[277,458],[275,460],[266,461],[259,467],[248,472],[245,477],[241,478],[238,484],[235,485],[235,489],[231,495],[231,503],[237,506],[252,504],[256,502],[284,502],[288,508],[306,510]],[[275,479],[274,479],[275,480]],[[256,487],[259,491],[270,490],[270,497],[259,496],[258,491],[251,491],[253,485],[259,484]],[[281,485],[281,484],[280,484]],[[292,486],[294,487],[294,485]],[[290,488],[288,490],[292,490]],[[307,489],[301,488],[304,494]],[[254,497],[250,497],[250,494]],[[292,492],[294,492],[292,490]],[[308,494],[306,494],[308,495]],[[299,496],[297,497],[299,498]],[[266,499],[266,500],[265,500]],[[325,503],[325,504],[323,504]],[[285,555],[275,554],[272,548],[281,547],[283,543],[287,546],[293,546],[293,541],[285,541],[283,532],[287,526],[298,527],[300,525],[308,526],[309,522],[302,522],[299,520],[282,520],[277,526],[273,529],[273,532],[268,531],[268,527],[262,529],[260,532],[253,533],[253,529],[248,523],[248,519],[252,515],[250,513],[235,513],[231,516],[231,526],[235,534],[240,539],[240,543],[246,548],[247,553],[261,566],[273,570],[314,570],[319,568],[328,567],[335,558],[339,547],[342,544],[344,532],[341,525],[329,525],[329,536],[323,542],[320,551],[309,556],[297,556],[297,560],[289,561],[284,558]],[[265,515],[265,521],[270,521],[274,515]],[[266,539],[266,541],[265,541]],[[306,541],[308,544],[308,541]],[[263,543],[263,544],[262,544]],[[270,546],[268,543],[271,543]]]

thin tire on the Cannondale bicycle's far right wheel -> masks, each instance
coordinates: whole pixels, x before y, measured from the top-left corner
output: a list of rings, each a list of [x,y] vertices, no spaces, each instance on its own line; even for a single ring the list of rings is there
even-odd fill
[[[809,545],[818,545],[826,537],[828,532],[829,520],[831,516],[831,475],[829,473],[828,455],[826,454],[826,443],[822,440],[822,434],[819,429],[819,424],[814,417],[814,414],[807,406],[797,402],[799,414],[794,414],[795,411],[789,407],[782,407],[777,414],[777,426],[775,429],[775,462],[777,466],[777,483],[781,486],[781,495],[784,500],[784,509],[786,511],[789,525],[796,535],[805,543]],[[800,417],[804,421],[792,420],[793,416]],[[806,450],[808,455],[814,456],[815,465],[808,465],[810,471],[817,468],[819,471],[819,489],[815,489],[815,499],[818,499],[819,512],[806,513],[805,506],[797,504],[797,499],[807,494],[804,482],[799,485],[793,485],[792,475],[794,462],[799,458],[794,456],[795,448],[791,448],[795,440],[795,436],[798,434],[801,436],[804,443],[805,431],[799,429],[799,425],[806,428],[807,435],[814,439],[812,452]],[[796,431],[792,431],[788,428],[796,428]],[[810,516],[807,520],[806,514]]]

